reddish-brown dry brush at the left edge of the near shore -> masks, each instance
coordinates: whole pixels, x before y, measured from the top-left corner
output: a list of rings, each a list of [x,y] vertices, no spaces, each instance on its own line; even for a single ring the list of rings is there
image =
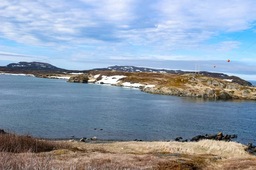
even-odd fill
[[[69,148],[69,142],[47,142],[38,140],[28,135],[0,134],[0,151],[21,153],[21,152],[47,152],[54,149]]]

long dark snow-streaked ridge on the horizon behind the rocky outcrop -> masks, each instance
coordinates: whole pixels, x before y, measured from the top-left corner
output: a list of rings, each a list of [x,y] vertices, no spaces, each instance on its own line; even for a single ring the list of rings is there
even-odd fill
[[[181,70],[165,70],[165,69],[154,69],[154,68],[146,68],[146,67],[134,67],[134,66],[118,66],[114,65],[108,68],[94,68],[94,71],[125,71],[125,72],[151,72],[151,73],[173,73],[173,74],[185,74],[185,73],[195,73],[194,71],[181,71]],[[223,73],[212,73],[207,71],[200,71],[200,74],[208,77],[214,77],[219,79],[229,79],[232,82],[235,82],[240,85],[245,85],[252,87],[250,82],[245,81],[236,76],[229,76]]]

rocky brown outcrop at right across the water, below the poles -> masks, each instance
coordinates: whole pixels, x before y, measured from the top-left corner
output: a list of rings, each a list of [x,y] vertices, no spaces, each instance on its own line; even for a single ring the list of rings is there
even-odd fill
[[[154,88],[142,88],[142,91],[152,94],[203,98],[256,99],[256,88],[192,73],[169,79]]]

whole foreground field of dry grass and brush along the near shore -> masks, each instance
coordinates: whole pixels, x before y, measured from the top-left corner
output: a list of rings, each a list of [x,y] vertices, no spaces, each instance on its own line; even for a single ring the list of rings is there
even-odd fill
[[[211,140],[47,142],[0,134],[0,170],[255,170],[256,156],[245,148]]]

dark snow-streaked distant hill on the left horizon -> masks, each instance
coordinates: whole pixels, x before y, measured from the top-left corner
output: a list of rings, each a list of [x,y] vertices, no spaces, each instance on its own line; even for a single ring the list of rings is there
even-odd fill
[[[15,70],[34,70],[34,71],[65,71],[66,69],[55,67],[45,62],[18,62],[6,65],[5,68]]]

